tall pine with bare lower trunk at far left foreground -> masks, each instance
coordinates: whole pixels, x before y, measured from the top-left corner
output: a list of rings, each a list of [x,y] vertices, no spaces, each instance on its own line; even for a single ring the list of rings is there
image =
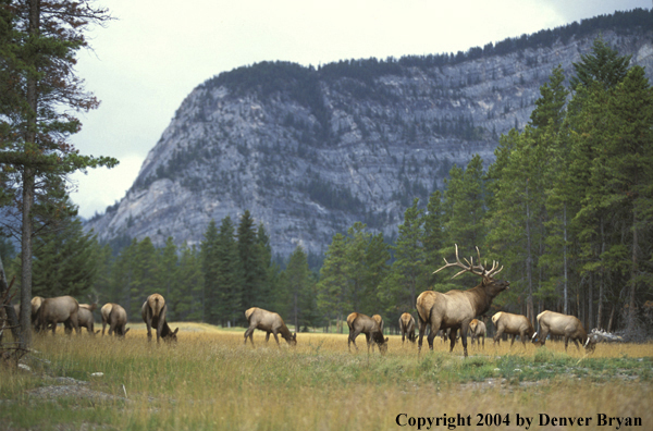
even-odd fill
[[[74,214],[65,199],[65,177],[77,170],[113,167],[118,160],[82,156],[67,143],[78,132],[73,111],[98,107],[75,75],[76,52],[85,33],[110,16],[102,8],[71,1],[4,1],[0,14],[0,202],[15,207],[21,232],[21,327],[24,347],[32,344],[34,222]],[[41,220],[42,222],[42,220]]]

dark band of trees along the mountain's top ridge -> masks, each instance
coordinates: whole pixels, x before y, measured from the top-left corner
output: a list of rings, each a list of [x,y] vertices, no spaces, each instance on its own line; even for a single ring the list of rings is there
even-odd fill
[[[318,113],[323,112],[319,79],[352,78],[373,86],[373,81],[381,76],[398,75],[406,73],[405,67],[433,67],[454,65],[469,60],[476,60],[489,56],[505,56],[526,49],[538,49],[552,47],[555,42],[563,44],[572,37],[586,37],[600,30],[614,30],[618,34],[630,34],[641,29],[651,29],[653,11],[634,9],[628,12],[615,12],[609,15],[600,15],[580,23],[543,29],[532,35],[521,35],[516,38],[506,38],[496,44],[490,42],[483,48],[473,47],[467,51],[457,53],[442,53],[428,56],[405,56],[399,59],[358,59],[341,60],[318,67],[301,66],[291,62],[261,62],[249,66],[243,66],[230,72],[223,72],[207,81],[204,86],[227,86],[236,94],[257,91],[263,96],[281,91],[289,95],[293,99],[311,107]],[[365,95],[377,97],[371,88]],[[318,115],[320,119],[321,115]]]

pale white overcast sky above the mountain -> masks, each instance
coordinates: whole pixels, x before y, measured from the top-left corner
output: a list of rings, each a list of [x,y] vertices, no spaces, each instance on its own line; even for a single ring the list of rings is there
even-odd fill
[[[260,61],[466,51],[574,21],[651,9],[651,0],[100,0],[118,19],[89,33],[78,75],[101,100],[72,139],[119,167],[73,175],[85,218],[124,197],[193,88]]]

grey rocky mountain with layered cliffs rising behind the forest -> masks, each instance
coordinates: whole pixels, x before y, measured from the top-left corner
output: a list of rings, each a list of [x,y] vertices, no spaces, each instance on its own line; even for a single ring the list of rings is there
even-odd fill
[[[393,235],[454,163],[491,163],[553,67],[571,76],[596,37],[651,79],[652,23],[636,10],[457,54],[222,73],[186,97],[126,196],[85,227],[103,242],[198,244],[211,219],[248,209],[281,255],[321,253],[356,221]]]

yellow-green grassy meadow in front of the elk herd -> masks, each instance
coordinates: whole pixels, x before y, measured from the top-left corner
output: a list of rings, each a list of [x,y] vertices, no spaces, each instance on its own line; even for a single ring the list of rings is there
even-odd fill
[[[300,333],[295,348],[282,338],[278,348],[256,331],[252,348],[243,345],[244,329],[180,323],[176,344],[157,345],[143,325],[130,327],[123,341],[36,336],[32,372],[0,367],[0,429],[398,430],[445,414],[470,416],[455,429],[526,429],[517,414],[533,418],[530,430],[552,429],[538,424],[540,414],[592,418],[590,427],[557,429],[594,429],[597,414],[641,418],[642,427],[619,429],[653,427],[651,344],[599,344],[586,356],[572,345],[566,354],[562,343],[525,349],[490,340],[464,359],[459,344],[449,354],[436,338],[432,353],[424,340],[418,358],[399,336],[381,356],[367,354],[365,335],[349,353],[346,334]],[[67,392],[57,391],[62,385]],[[56,395],[35,395],[42,393]],[[401,414],[399,422],[415,418],[415,426],[399,427]],[[510,423],[478,426],[478,415],[495,414]],[[443,423],[431,429],[454,429]]]

